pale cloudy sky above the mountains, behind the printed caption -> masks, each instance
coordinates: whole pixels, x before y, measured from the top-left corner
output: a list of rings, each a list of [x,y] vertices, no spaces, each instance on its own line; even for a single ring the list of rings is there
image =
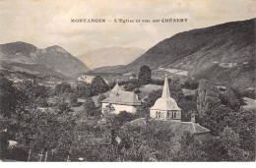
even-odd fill
[[[256,17],[255,0],[0,0],[0,44],[59,45],[74,56],[111,46],[145,50],[175,33]],[[114,23],[114,19],[188,19]],[[106,23],[71,23],[105,19]]]

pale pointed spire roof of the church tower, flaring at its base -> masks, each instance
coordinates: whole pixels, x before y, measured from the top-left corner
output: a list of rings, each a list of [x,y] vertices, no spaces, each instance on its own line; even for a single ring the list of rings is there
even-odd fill
[[[165,76],[161,97],[155,102],[151,108],[153,110],[181,110],[176,101],[170,97],[169,84],[167,76]]]

